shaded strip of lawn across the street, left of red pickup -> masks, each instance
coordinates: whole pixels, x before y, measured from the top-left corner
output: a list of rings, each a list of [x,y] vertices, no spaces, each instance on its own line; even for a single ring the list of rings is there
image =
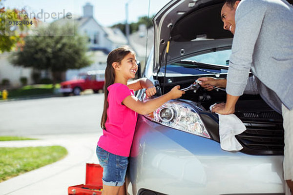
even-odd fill
[[[56,84],[55,88],[60,88],[60,84]],[[30,96],[53,94],[53,84],[26,85],[18,89],[8,90],[8,98],[24,98]]]

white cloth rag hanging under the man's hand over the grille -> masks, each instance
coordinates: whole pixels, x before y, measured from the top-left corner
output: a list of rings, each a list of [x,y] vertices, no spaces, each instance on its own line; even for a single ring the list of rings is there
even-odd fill
[[[216,103],[209,107],[210,111],[214,105],[216,105]],[[243,122],[234,114],[230,114],[230,115],[218,114],[218,115],[219,115],[219,135],[220,135],[221,148],[226,151],[242,150],[243,147],[238,142],[235,136],[241,134],[242,132],[246,130],[246,127],[243,124]]]

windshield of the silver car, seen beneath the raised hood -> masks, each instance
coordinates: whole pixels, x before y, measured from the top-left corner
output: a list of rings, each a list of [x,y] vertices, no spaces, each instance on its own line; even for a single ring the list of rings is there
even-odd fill
[[[216,51],[207,54],[201,54],[175,63],[167,64],[167,74],[218,74],[227,73],[231,50]],[[160,69],[165,73],[165,66]]]

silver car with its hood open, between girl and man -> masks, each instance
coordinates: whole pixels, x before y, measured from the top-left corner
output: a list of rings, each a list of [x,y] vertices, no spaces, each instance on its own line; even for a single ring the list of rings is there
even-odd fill
[[[157,96],[175,85],[187,88],[200,77],[226,78],[232,34],[223,29],[222,5],[223,0],[172,0],[154,17],[154,49],[144,76],[154,81]],[[235,115],[247,128],[236,136],[243,149],[224,151],[219,119],[209,106],[225,101],[226,92],[197,85],[188,89],[182,98],[138,117],[127,192],[284,194],[282,116],[259,95],[241,96]],[[143,90],[137,94],[141,100],[144,96]]]

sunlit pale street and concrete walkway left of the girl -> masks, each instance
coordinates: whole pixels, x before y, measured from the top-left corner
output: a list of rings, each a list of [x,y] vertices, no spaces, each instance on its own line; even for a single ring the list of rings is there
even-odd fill
[[[0,147],[61,145],[68,155],[55,163],[0,183],[0,195],[66,195],[85,182],[86,163],[99,163],[104,94],[0,103],[0,135],[38,138],[2,141]]]

